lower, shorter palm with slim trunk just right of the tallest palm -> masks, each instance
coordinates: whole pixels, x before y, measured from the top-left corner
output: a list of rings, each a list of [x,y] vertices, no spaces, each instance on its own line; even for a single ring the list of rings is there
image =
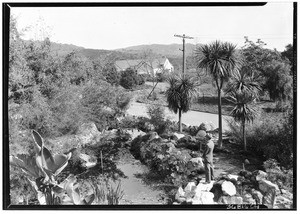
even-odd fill
[[[253,93],[248,93],[245,90],[231,91],[228,96],[228,100],[234,104],[234,108],[230,112],[235,121],[238,121],[242,125],[242,134],[244,142],[244,150],[247,151],[247,141],[245,127],[246,122],[253,122],[257,111],[253,102],[256,96]]]

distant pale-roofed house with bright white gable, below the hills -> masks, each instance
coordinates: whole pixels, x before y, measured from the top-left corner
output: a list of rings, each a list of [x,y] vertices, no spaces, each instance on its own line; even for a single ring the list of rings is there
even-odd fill
[[[174,66],[170,61],[163,57],[153,60],[135,59],[135,60],[119,60],[115,62],[117,71],[125,71],[133,68],[138,74],[156,75],[162,72],[173,72]]]

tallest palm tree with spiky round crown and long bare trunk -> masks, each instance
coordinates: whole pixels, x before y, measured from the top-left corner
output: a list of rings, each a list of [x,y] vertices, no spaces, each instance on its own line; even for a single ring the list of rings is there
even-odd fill
[[[218,91],[219,147],[222,148],[222,102],[224,82],[239,68],[240,57],[236,46],[228,42],[215,41],[196,48],[197,67],[205,69],[213,77]]]

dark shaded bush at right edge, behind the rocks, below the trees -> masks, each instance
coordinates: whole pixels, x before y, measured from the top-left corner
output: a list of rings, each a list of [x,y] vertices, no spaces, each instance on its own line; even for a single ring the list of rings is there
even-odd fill
[[[282,118],[282,119],[280,119]],[[230,136],[242,144],[239,124],[229,123]],[[251,126],[246,126],[248,149],[265,160],[276,159],[281,166],[293,167],[293,112],[267,113]]]

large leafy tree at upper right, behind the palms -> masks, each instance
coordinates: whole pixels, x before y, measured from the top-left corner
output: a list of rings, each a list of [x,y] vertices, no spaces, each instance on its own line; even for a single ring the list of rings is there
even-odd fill
[[[264,48],[266,44],[263,41],[254,43],[247,37],[245,39],[245,46],[242,48],[243,66],[259,77],[262,90],[269,93],[270,99],[290,99],[293,84],[290,62],[278,51]]]

